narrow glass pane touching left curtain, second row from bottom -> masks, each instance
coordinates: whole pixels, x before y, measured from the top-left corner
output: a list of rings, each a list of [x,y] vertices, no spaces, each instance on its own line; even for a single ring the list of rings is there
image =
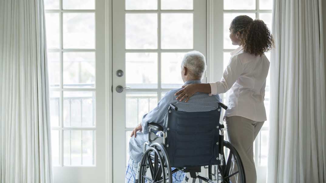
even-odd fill
[[[60,92],[50,92],[50,121],[51,126],[60,126]]]

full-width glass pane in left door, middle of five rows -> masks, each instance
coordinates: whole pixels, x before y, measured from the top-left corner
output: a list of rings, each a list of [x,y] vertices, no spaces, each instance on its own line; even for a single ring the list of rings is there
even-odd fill
[[[63,53],[64,87],[95,87],[95,53]]]

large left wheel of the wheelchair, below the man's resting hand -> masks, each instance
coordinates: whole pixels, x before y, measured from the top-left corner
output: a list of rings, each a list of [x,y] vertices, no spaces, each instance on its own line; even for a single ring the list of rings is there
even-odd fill
[[[149,147],[140,163],[139,183],[172,183],[170,162],[164,150]]]

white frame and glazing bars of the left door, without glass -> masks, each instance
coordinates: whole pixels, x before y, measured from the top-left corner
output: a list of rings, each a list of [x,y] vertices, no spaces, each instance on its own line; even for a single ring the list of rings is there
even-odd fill
[[[62,181],[70,181],[70,182],[76,182],[78,180],[85,180],[85,181],[91,181],[91,179],[96,179],[96,181],[101,180],[101,182],[108,182],[108,173],[107,173],[107,160],[109,159],[107,156],[107,136],[108,136],[108,130],[107,130],[107,121],[110,120],[108,116],[106,115],[106,111],[104,109],[104,106],[107,105],[107,102],[105,100],[99,100],[99,98],[107,98],[105,96],[105,93],[107,91],[107,87],[104,85],[104,82],[106,82],[106,78],[104,79],[105,75],[107,74],[107,69],[104,68],[104,65],[106,64],[105,59],[105,46],[106,41],[104,39],[99,39],[100,37],[106,35],[104,25],[106,24],[104,18],[104,14],[106,14],[107,9],[104,7],[104,5],[107,3],[108,0],[95,0],[95,9],[74,9],[74,10],[67,10],[62,8],[62,0],[59,0],[59,9],[49,9],[45,10],[43,13],[58,13],[59,14],[59,39],[60,39],[60,47],[54,48],[54,49],[48,49],[48,52],[61,52],[60,55],[60,67],[63,68],[63,53],[64,52],[94,52],[95,53],[95,88],[91,88],[90,91],[93,91],[96,96],[95,102],[95,113],[96,116],[96,125],[95,127],[65,127],[63,126],[63,95],[61,95],[61,104],[60,105],[60,118],[61,118],[61,125],[58,127],[58,129],[54,130],[60,130],[60,165],[59,166],[53,166],[53,181],[55,182],[62,182]],[[63,13],[94,13],[95,16],[95,48],[94,49],[69,49],[63,47]],[[51,23],[51,22],[50,22]],[[94,51],[93,51],[94,50]],[[80,88],[64,88],[63,87],[63,71],[60,71],[60,77],[61,77],[61,85],[60,88],[55,88],[52,91],[60,91],[63,93],[64,91],[88,91],[87,89],[80,89]],[[56,128],[56,127],[55,127]],[[64,130],[94,130],[95,132],[95,164],[94,165],[64,165],[63,160],[63,131]],[[99,148],[100,147],[100,148]],[[88,174],[95,173],[101,171],[98,176],[91,177]],[[103,172],[103,173],[102,173]],[[57,176],[55,176],[57,175]],[[87,180],[89,179],[89,180]],[[103,181],[102,181],[103,180]]]

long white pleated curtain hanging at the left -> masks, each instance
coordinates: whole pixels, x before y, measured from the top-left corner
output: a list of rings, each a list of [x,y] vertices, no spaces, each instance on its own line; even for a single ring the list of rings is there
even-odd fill
[[[0,1],[0,182],[52,182],[43,0]]]

